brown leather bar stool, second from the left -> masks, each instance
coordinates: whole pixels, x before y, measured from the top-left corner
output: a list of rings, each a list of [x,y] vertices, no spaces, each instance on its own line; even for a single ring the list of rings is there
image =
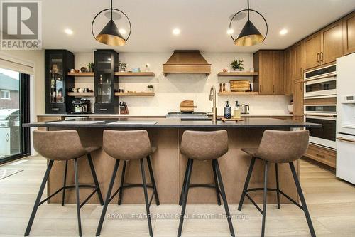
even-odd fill
[[[102,223],[104,223],[104,217],[107,211],[107,206],[110,201],[114,199],[117,193],[119,194],[119,204],[121,204],[121,195],[125,188],[131,187],[143,187],[144,199],[146,201],[146,211],[148,219],[149,235],[153,236],[153,228],[151,223],[151,214],[149,207],[153,201],[153,196],[155,196],[155,203],[159,205],[158,191],[155,185],[155,179],[153,174],[153,168],[151,165],[151,154],[154,150],[151,147],[151,142],[149,140],[148,132],[146,130],[134,130],[134,131],[116,131],[116,130],[104,130],[103,138],[103,148],[104,151],[109,154],[110,157],[116,159],[114,164],[114,172],[112,172],[111,181],[109,184],[109,189],[107,190],[107,196],[104,202],[104,208],[102,209],[102,214],[100,217],[99,225],[97,226],[96,236],[99,236],[102,230]],[[146,173],[144,171],[143,159],[147,159],[149,174],[151,177],[152,184],[146,184]],[[131,184],[124,185],[124,172],[126,169],[126,162],[130,160],[139,159],[141,162],[141,176],[143,184]],[[114,180],[116,178],[117,169],[119,169],[119,161],[124,161],[124,167],[122,169],[121,185],[117,191],[111,196],[112,187],[114,186]],[[153,189],[153,194],[151,199],[148,200],[147,188]]]

